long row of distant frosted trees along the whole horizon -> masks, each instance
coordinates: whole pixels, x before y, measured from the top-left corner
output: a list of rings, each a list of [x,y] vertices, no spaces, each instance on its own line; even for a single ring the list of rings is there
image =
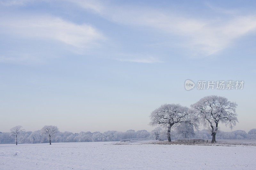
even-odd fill
[[[203,138],[210,139],[211,134],[209,130],[195,130],[191,127],[185,127],[184,124],[177,126],[171,131],[172,140],[180,138]],[[186,134],[186,135],[185,135]],[[167,140],[166,130],[161,127],[148,132],[147,130],[127,130],[126,132],[120,131],[106,131],[100,132],[56,132],[51,136],[51,142],[101,142],[101,141],[120,141],[122,139],[131,138],[152,138],[156,140]],[[219,132],[216,139],[256,139],[256,129],[251,129],[248,133],[244,130],[235,130],[231,132]],[[15,143],[16,136],[13,136],[11,132],[0,132],[0,143]],[[18,144],[36,144],[36,143],[49,143],[49,135],[42,133],[42,130],[25,131],[22,130],[17,135]]]

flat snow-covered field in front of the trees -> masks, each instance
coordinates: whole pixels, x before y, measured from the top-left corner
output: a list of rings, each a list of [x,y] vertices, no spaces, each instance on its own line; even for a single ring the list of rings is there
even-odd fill
[[[256,169],[256,146],[0,144],[0,169]]]

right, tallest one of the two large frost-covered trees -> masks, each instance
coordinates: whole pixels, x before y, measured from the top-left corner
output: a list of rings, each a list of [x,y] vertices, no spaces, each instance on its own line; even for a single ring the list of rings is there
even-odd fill
[[[226,126],[228,125],[230,129],[238,122],[236,117],[236,102],[228,101],[225,97],[216,95],[206,96],[195,104],[192,104],[191,107],[198,114],[204,126],[208,126],[211,129],[212,143],[216,142],[215,136],[218,132],[220,122]]]

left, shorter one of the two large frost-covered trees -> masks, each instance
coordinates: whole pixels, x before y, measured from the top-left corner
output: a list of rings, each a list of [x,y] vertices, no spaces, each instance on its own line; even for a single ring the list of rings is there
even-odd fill
[[[174,124],[192,123],[192,112],[180,104],[164,104],[150,114],[150,125],[160,125],[167,128],[168,142],[171,142],[171,128]]]

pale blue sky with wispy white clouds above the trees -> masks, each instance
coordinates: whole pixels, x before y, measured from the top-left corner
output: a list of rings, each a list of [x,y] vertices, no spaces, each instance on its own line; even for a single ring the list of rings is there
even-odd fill
[[[164,103],[206,95],[256,128],[255,1],[0,0],[0,131],[151,130]],[[184,82],[244,80],[243,90]],[[229,131],[224,125],[220,129]]]

